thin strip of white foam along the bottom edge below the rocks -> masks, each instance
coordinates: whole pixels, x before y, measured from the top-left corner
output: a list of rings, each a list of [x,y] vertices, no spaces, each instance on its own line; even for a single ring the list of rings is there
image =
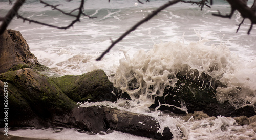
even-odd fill
[[[68,129],[68,128],[27,128],[27,129],[19,129],[15,131],[8,131],[9,135],[19,136],[19,137],[27,137],[27,138],[38,138],[38,139],[54,139],[54,140],[112,140],[112,139],[150,139],[146,137],[135,136],[127,133],[122,133],[118,131],[113,131],[112,133],[100,132],[97,134],[93,134],[90,132],[79,132],[78,129]]]

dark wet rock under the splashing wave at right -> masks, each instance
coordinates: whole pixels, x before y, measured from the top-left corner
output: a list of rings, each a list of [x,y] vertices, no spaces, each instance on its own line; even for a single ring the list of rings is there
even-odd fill
[[[186,74],[184,74],[186,73]],[[177,107],[186,106],[188,113],[203,111],[209,116],[254,116],[256,112],[252,106],[244,106],[236,109],[228,101],[220,103],[216,99],[217,87],[223,87],[218,80],[213,80],[209,75],[198,71],[180,72],[176,75],[179,79],[175,88],[166,87],[162,97],[156,97],[155,104],[151,108],[156,108],[160,104],[170,104]],[[160,110],[170,110],[173,113],[185,114],[184,111],[176,107],[161,106]]]

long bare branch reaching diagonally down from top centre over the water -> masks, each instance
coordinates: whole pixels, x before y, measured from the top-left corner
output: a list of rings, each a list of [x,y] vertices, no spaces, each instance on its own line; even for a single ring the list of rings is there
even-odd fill
[[[129,30],[127,30],[125,33],[123,33],[117,40],[115,40],[114,42],[112,42],[112,44],[108,47],[108,49],[106,49],[101,55],[100,57],[98,57],[96,60],[99,61],[101,60],[104,55],[106,53],[108,53],[113,46],[120,42],[125,36],[127,36],[128,34],[130,34],[132,31],[134,31],[135,29],[137,29],[138,26],[140,26],[141,24],[143,24],[144,22],[147,22],[148,20],[150,20],[152,17],[154,17],[155,15],[157,15],[157,13],[159,13],[160,11],[162,11],[163,9],[174,5],[178,2],[180,2],[181,0],[173,0],[173,1],[169,1],[168,3],[162,5],[161,7],[159,7],[157,10],[153,11],[151,14],[149,14],[147,17],[145,17],[143,20],[141,20],[140,22],[136,23],[134,26],[132,26]]]

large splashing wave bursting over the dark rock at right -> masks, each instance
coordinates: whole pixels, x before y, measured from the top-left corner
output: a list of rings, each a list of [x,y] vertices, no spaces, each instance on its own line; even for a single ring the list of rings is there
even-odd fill
[[[166,87],[176,87],[177,73],[197,70],[199,75],[205,73],[225,85],[217,88],[217,99],[221,103],[229,101],[237,108],[254,105],[255,65],[244,65],[225,43],[209,46],[206,43],[210,40],[201,39],[199,34],[198,37],[199,41],[188,44],[184,39],[183,42],[154,44],[153,49],[139,50],[133,58],[123,51],[125,58],[120,59],[115,76],[109,78],[122,93],[128,93],[138,107],[148,108],[154,104],[156,96],[163,96]]]

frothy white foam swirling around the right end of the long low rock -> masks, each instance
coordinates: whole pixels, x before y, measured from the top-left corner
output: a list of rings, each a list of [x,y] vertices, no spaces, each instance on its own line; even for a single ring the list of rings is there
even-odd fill
[[[124,105],[126,103],[126,105]],[[104,101],[96,103],[84,103],[80,107],[106,106],[117,108],[123,111],[132,111],[152,116],[159,122],[159,133],[164,132],[168,127],[174,135],[173,139],[250,139],[256,138],[256,134],[248,125],[240,126],[231,117],[218,116],[192,120],[191,117],[187,122],[178,116],[170,116],[161,111],[141,111],[133,109],[133,103],[129,100],[118,100],[116,103]],[[129,105],[127,105],[129,104]],[[138,122],[141,123],[142,122]]]

